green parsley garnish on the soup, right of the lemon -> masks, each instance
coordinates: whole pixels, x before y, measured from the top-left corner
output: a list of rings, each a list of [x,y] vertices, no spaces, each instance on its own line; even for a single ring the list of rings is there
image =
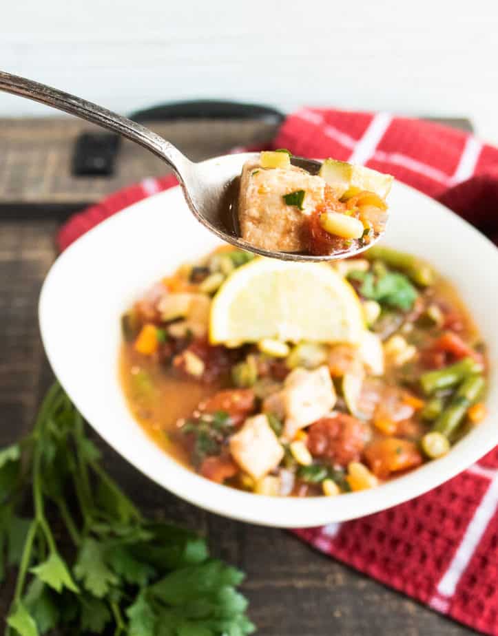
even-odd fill
[[[364,298],[377,300],[388,307],[407,311],[413,307],[418,293],[408,277],[398,272],[352,271],[349,278],[361,282],[360,294]]]

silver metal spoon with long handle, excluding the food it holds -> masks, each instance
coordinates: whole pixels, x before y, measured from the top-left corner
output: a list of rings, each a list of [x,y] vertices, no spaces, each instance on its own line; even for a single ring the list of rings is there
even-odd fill
[[[191,213],[207,229],[222,240],[249,252],[289,261],[324,261],[358,254],[371,247],[378,240],[377,235],[366,246],[346,253],[313,256],[304,253],[267,251],[258,248],[237,234],[236,223],[227,222],[227,198],[234,179],[240,176],[242,165],[248,159],[257,158],[258,153],[240,153],[218,157],[208,162],[194,163],[178,148],[158,134],[131,119],[113,113],[106,108],[84,99],[59,91],[45,84],[0,71],[0,90],[21,95],[42,104],[52,106],[98,126],[123,135],[160,159],[163,159],[176,173]],[[316,174],[321,163],[301,157],[291,158],[293,165]]]

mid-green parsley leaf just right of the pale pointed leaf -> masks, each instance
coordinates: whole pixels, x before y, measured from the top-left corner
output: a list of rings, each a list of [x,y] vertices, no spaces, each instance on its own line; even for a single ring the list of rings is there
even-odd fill
[[[92,538],[83,541],[74,566],[74,575],[97,598],[105,596],[110,586],[118,583],[118,577],[105,562],[105,545]]]

